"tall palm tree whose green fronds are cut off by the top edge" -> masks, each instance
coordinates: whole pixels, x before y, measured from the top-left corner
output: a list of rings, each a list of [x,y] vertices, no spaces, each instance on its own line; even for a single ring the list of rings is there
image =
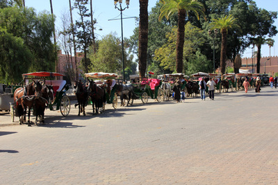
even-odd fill
[[[163,17],[169,19],[175,12],[178,13],[178,30],[177,30],[177,46],[176,46],[176,70],[177,73],[183,72],[183,45],[184,45],[184,26],[186,26],[186,16],[188,12],[195,13],[197,19],[199,14],[205,17],[204,5],[195,0],[161,0],[161,14],[159,20]]]

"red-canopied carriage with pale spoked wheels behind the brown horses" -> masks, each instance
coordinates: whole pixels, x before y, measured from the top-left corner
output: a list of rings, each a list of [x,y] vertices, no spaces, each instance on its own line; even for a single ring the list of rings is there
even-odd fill
[[[22,99],[25,99],[26,102],[31,101],[31,103],[33,103],[32,99],[34,101],[36,99],[40,100],[39,103],[41,103],[42,106],[47,104],[51,111],[60,110],[60,113],[63,116],[67,116],[70,113],[70,98],[66,94],[66,91],[69,89],[69,86],[66,85],[65,80],[52,80],[52,78],[56,76],[63,76],[63,75],[60,73],[53,73],[47,71],[22,74],[24,82],[26,83],[26,87],[24,88],[20,87],[21,89],[18,88],[19,92],[22,91],[21,97],[17,97],[19,96],[18,92],[17,94],[14,95],[15,104],[10,105],[10,116],[12,118],[12,121],[15,121],[15,116],[18,115],[17,109],[15,109],[16,105],[18,104],[17,101]],[[47,78],[49,78],[49,80],[47,80]],[[40,85],[41,81],[44,86]],[[27,87],[33,88],[32,86],[34,87],[41,86],[40,89],[37,91],[37,93],[39,94],[44,93],[42,92],[42,89],[44,89],[45,87],[45,96],[39,95],[37,98],[34,99],[35,92],[33,92],[32,94],[28,94],[28,89],[27,89]],[[38,104],[38,102],[33,103],[33,105],[35,104]],[[35,108],[35,106],[32,106],[32,104],[31,107]],[[28,116],[30,116],[30,113],[28,114],[29,114]],[[41,120],[43,119],[43,115],[44,115],[44,109],[42,115],[40,115]],[[19,121],[21,121],[20,118]],[[20,123],[22,123],[22,121]]]

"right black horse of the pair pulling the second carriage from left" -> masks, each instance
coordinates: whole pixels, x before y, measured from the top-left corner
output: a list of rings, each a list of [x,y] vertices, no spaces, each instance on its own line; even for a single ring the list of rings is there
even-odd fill
[[[104,111],[104,106],[106,102],[105,91],[103,88],[98,87],[93,80],[88,81],[88,94],[92,100],[92,111],[95,114],[99,114],[99,108],[101,112]],[[94,107],[95,105],[95,107]]]

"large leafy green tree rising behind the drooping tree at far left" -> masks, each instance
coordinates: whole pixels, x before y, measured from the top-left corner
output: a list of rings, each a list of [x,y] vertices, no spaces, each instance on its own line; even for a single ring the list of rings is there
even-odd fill
[[[3,8],[0,10],[0,28],[24,40],[24,45],[32,53],[30,65],[23,66],[28,71],[54,71],[57,53],[51,42],[54,19],[47,12],[36,15],[33,8]]]

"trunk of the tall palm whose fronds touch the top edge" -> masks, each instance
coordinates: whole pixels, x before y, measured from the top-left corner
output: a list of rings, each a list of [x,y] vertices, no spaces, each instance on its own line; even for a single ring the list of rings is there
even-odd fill
[[[183,46],[184,46],[184,26],[186,26],[186,10],[181,9],[178,12],[178,30],[176,45],[176,70],[177,73],[183,72]]]

